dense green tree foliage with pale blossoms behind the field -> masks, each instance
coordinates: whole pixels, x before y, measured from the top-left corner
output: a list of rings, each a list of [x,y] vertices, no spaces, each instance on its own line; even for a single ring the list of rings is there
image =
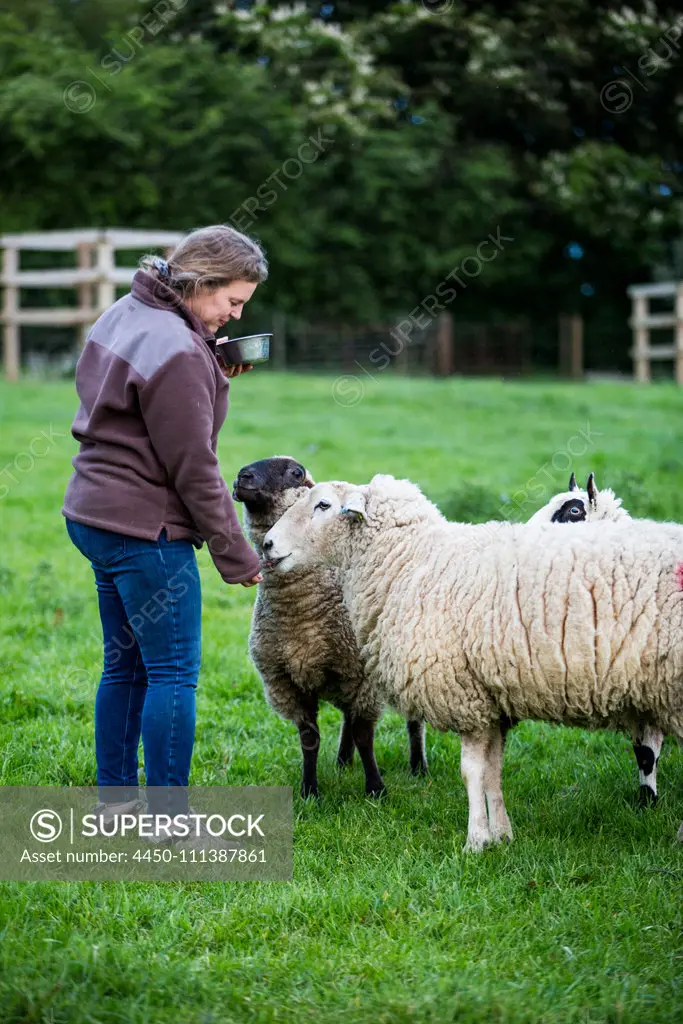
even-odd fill
[[[2,229],[236,217],[270,253],[270,306],[368,323],[405,316],[500,225],[514,246],[458,314],[581,310],[589,360],[621,365],[627,285],[680,267],[683,65],[648,56],[678,12],[429,6],[10,0]],[[610,111],[625,78],[632,102]]]

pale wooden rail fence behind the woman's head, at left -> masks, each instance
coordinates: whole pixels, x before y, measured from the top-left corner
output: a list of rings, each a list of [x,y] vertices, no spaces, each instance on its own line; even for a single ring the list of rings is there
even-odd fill
[[[119,249],[163,249],[170,252],[180,241],[180,231],[146,231],[112,228],[73,231],[41,231],[0,237],[3,250],[0,284],[4,287],[2,309],[5,377],[17,380],[22,366],[19,328],[77,327],[81,339],[116,298],[118,285],[128,285],[136,267],[116,265]],[[22,270],[23,250],[73,252],[76,266],[66,269]],[[19,290],[24,288],[76,289],[77,306],[22,309]]]

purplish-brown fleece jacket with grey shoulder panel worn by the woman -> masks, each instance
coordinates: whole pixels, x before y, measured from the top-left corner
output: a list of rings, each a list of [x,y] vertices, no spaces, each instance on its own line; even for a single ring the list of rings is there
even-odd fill
[[[81,442],[62,513],[156,541],[206,541],[226,583],[256,575],[216,443],[228,383],[215,339],[176,293],[138,270],[92,326],[76,368]]]

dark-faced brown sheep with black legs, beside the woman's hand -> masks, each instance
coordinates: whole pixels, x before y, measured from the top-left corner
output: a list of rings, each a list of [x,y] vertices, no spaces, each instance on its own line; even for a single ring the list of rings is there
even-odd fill
[[[290,456],[261,459],[240,470],[232,497],[244,503],[245,529],[259,553],[268,529],[312,485],[305,467]],[[337,763],[350,764],[357,746],[366,792],[384,793],[374,754],[382,706],[366,686],[337,570],[315,569],[286,579],[266,571],[254,605],[249,651],[266,699],[299,730],[302,796],[318,794],[319,699],[329,700],[344,716]],[[407,724],[411,769],[414,774],[426,772],[424,723]]]

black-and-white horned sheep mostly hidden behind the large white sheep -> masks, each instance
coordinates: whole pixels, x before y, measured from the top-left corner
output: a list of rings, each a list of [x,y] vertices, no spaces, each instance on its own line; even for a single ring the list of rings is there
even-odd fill
[[[586,483],[586,490],[581,490],[577,477],[569,477],[569,489],[564,494],[555,495],[539,509],[528,523],[581,523],[611,521],[618,522],[631,518],[622,507],[622,499],[614,496],[610,489],[598,490],[595,473],[591,473]],[[633,752],[638,764],[640,775],[640,803],[642,806],[654,805],[657,802],[657,761],[661,753],[664,736],[658,729],[652,728],[647,721],[638,722],[631,736]]]

